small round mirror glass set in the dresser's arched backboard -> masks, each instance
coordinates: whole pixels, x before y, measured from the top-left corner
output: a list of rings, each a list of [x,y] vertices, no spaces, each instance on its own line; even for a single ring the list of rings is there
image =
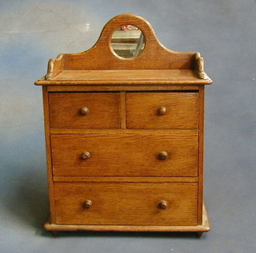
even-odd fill
[[[142,31],[136,26],[124,25],[114,31],[111,46],[115,53],[122,58],[133,58],[142,53],[145,39]]]

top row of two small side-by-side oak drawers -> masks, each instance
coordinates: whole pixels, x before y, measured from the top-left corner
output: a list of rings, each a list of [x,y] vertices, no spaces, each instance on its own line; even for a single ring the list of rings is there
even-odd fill
[[[50,128],[198,128],[198,93],[125,95],[49,93]]]

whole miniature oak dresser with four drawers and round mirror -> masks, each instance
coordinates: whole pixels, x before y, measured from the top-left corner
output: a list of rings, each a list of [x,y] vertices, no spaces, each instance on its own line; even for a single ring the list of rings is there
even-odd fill
[[[48,231],[210,230],[203,204],[200,53],[166,49],[122,14],[82,53],[50,59],[42,85]]]

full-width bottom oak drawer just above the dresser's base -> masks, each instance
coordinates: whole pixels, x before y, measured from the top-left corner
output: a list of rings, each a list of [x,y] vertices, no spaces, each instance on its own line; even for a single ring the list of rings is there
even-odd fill
[[[197,183],[54,183],[58,224],[196,225]],[[164,209],[165,208],[165,209]]]

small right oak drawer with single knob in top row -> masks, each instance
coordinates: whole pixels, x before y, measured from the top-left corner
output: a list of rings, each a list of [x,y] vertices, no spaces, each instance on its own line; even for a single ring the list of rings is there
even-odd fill
[[[198,93],[126,93],[127,128],[198,128]]]

